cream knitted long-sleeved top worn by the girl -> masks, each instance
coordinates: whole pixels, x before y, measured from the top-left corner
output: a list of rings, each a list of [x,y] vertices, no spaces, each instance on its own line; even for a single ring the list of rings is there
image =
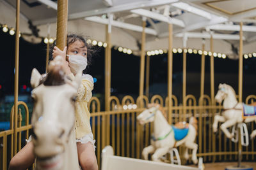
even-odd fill
[[[74,80],[74,74],[68,75]],[[75,102],[76,112],[76,139],[83,138],[86,134],[92,132],[90,125],[90,113],[88,111],[88,101],[92,98],[93,78],[89,74],[83,74],[79,89],[77,90],[77,98]]]

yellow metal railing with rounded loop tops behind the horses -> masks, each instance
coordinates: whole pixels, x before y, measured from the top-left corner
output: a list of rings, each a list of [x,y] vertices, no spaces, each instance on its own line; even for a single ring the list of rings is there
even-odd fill
[[[141,99],[143,99],[142,107],[140,107]],[[220,128],[218,128],[216,134],[212,132],[214,115],[220,113],[222,106],[216,103],[212,104],[211,97],[206,95],[200,97],[198,101],[196,101],[195,96],[188,95],[184,101],[184,106],[179,105],[177,97],[172,96],[172,114],[167,115],[167,120],[169,123],[184,120],[188,122],[189,117],[196,117],[198,120],[198,136],[196,138],[198,157],[204,157],[204,162],[237,160],[237,143],[232,143],[230,139],[227,139]],[[246,98],[246,104],[255,101],[256,96],[254,95]],[[139,125],[136,122],[136,117],[141,111],[145,110],[145,106],[148,103],[159,103],[168,113],[168,98],[163,99],[159,95],[153,96],[150,100],[146,96],[136,100],[131,96],[125,96],[122,101],[115,96],[111,96],[110,111],[100,111],[100,106],[102,105],[99,99],[92,97],[88,103],[88,108],[92,117],[92,132],[96,139],[96,155],[99,163],[101,150],[105,145],[113,146],[115,155],[141,159],[141,151],[145,146],[149,145],[150,132],[153,129],[151,124]],[[7,169],[8,162],[10,162],[13,154],[22,148],[24,138],[29,137],[31,125],[28,124],[28,106],[23,102],[19,102],[19,105],[25,108],[25,125],[21,125],[22,117],[20,110],[18,122],[13,122],[14,111],[12,110],[10,130],[0,132],[0,169]],[[13,128],[15,127],[14,124],[17,124],[17,129]],[[254,123],[252,122],[247,125],[249,133],[252,132],[255,127]],[[22,132],[25,132],[24,136],[22,136]],[[13,141],[17,141],[17,143]],[[255,159],[254,143],[255,139],[251,139],[250,145],[243,147],[243,160]],[[179,147],[179,152],[182,157],[184,152],[182,146]],[[182,161],[184,162],[183,157]]]

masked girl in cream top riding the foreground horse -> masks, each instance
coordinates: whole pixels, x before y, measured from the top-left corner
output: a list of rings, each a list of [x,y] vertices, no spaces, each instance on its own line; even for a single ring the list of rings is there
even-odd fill
[[[92,50],[86,43],[83,36],[69,34],[67,36],[67,46],[61,51],[57,46],[52,49],[52,57],[61,55],[66,58],[67,63],[64,70],[70,79],[74,79],[79,69],[86,69],[92,59]],[[88,101],[92,97],[93,78],[89,74],[83,74],[77,98],[75,102],[76,111],[76,141],[79,164],[83,170],[98,169],[95,156],[95,140],[90,127],[90,113],[87,108]],[[30,139],[31,140],[31,139]],[[29,140],[29,141],[30,141]],[[9,170],[27,169],[35,160],[33,153],[33,143],[29,142],[10,161]]]

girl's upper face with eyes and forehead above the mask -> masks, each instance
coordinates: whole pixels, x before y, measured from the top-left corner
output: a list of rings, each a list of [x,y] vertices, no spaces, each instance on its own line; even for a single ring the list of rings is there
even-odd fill
[[[87,58],[87,47],[84,46],[82,41],[77,40],[74,43],[68,45],[67,54],[82,55]]]

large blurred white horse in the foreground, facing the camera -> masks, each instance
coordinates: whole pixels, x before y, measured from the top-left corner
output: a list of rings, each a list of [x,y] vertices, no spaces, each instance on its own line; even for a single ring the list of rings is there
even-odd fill
[[[77,74],[74,81],[68,80],[62,63],[63,59],[57,56],[50,62],[47,75],[41,75],[36,69],[31,74],[35,169],[80,169],[74,132],[74,101],[81,76]]]

